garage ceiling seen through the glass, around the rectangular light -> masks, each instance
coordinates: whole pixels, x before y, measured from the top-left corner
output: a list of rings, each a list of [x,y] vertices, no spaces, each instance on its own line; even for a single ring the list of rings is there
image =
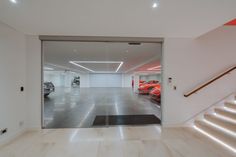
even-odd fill
[[[118,71],[120,73],[146,71],[148,68],[160,65],[161,49],[160,43],[129,45],[110,42],[43,42],[46,67],[55,70],[74,69],[81,72],[91,72],[85,68],[95,72],[116,72],[121,62],[123,65]],[[78,63],[85,67],[81,68],[69,63],[70,61],[90,62]],[[91,63],[91,61],[111,63]]]

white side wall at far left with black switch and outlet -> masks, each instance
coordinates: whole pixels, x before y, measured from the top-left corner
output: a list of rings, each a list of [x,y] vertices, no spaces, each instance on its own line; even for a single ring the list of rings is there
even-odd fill
[[[25,52],[25,36],[0,22],[0,128],[8,129],[0,144],[26,128]]]

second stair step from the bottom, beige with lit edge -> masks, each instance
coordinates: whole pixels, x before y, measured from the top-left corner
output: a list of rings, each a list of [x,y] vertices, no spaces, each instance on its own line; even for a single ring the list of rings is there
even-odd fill
[[[205,114],[204,118],[222,128],[225,128],[227,130],[230,130],[232,132],[236,133],[236,123],[221,119],[215,115],[212,114]]]

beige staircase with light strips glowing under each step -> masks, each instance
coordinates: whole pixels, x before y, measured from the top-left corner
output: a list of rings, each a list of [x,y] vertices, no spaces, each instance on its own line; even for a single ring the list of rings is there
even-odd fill
[[[236,101],[225,102],[194,121],[194,128],[236,153]]]

